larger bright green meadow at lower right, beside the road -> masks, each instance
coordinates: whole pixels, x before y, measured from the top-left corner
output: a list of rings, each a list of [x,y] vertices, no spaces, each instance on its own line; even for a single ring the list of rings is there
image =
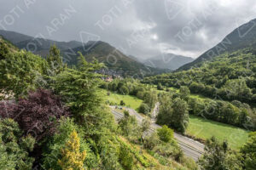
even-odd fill
[[[198,116],[189,116],[187,132],[199,139],[215,136],[219,141],[226,139],[232,149],[238,149],[247,142],[248,131],[220,122],[213,122]]]

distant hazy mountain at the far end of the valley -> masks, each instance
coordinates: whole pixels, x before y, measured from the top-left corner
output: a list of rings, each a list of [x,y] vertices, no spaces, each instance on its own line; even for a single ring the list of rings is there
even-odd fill
[[[154,68],[176,70],[178,67],[185,65],[194,59],[176,54],[161,54],[150,59],[144,60],[145,65]]]

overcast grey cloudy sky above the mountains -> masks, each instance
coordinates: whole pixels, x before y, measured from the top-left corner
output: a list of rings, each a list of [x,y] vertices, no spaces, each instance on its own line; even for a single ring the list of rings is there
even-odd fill
[[[56,41],[101,40],[138,59],[196,58],[256,18],[255,0],[8,0],[0,29]]]

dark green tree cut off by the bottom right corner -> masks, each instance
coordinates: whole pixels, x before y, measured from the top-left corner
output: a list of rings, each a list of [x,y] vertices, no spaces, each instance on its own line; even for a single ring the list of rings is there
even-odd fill
[[[256,167],[256,132],[249,134],[247,143],[241,148],[246,170],[253,170]]]

